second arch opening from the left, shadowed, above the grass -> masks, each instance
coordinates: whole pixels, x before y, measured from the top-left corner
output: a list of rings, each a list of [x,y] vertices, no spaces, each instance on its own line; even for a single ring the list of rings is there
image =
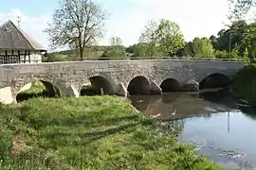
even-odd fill
[[[109,78],[105,76],[90,76],[88,81],[82,85],[81,95],[91,94],[113,94],[113,85]]]

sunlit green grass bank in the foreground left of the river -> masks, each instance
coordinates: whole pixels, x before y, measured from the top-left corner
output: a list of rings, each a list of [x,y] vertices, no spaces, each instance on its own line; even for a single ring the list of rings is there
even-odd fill
[[[119,97],[34,98],[0,110],[1,170],[219,169]]]

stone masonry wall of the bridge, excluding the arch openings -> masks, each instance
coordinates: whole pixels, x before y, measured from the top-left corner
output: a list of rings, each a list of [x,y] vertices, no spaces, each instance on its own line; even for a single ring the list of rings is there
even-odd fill
[[[125,95],[129,82],[136,76],[145,76],[149,84],[154,84],[155,91],[166,78],[174,78],[180,84],[191,80],[199,83],[215,73],[232,77],[243,66],[242,62],[171,59],[9,64],[0,66],[0,89],[9,89],[15,102],[17,93],[37,78],[51,83],[64,96],[79,96],[82,83],[92,76],[101,76],[108,80],[113,93]],[[5,97],[1,95],[3,101]]]

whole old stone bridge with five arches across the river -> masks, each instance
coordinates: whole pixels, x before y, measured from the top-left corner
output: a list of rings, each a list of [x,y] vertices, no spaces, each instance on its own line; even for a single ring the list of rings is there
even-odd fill
[[[162,93],[196,86],[218,87],[230,82],[243,62],[224,60],[83,60],[9,64],[0,66],[0,102],[16,102],[16,95],[36,79],[46,91],[80,96],[82,84],[106,94]],[[187,86],[192,85],[192,86]]]

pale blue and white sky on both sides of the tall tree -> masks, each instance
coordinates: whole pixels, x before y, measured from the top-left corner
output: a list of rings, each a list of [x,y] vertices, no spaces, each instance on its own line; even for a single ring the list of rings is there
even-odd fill
[[[186,41],[195,37],[210,37],[227,24],[228,0],[95,0],[107,11],[104,38],[99,42],[108,45],[110,38],[118,36],[123,45],[136,43],[144,26],[150,20],[168,19],[175,22]],[[43,31],[51,22],[58,0],[7,0],[1,2],[0,24],[11,20],[34,40],[48,48]]]

